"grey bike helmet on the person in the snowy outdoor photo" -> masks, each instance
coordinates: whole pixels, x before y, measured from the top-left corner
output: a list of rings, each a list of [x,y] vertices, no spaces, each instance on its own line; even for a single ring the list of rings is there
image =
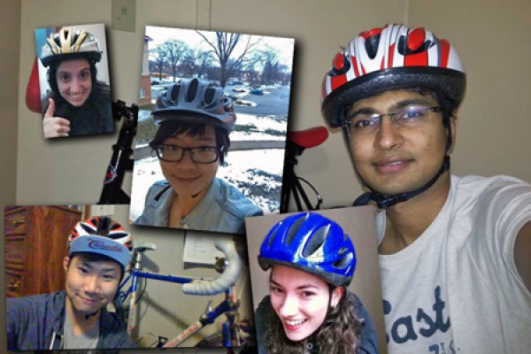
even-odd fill
[[[151,112],[155,123],[186,121],[210,124],[232,132],[236,115],[230,98],[223,96],[223,88],[211,81],[182,79],[162,92]]]

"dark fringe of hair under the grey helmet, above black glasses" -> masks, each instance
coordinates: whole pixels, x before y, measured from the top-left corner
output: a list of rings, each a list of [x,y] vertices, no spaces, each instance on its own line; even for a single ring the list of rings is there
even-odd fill
[[[180,134],[188,134],[193,137],[204,136],[207,125],[187,123],[176,120],[165,120],[158,127],[157,133],[150,141],[150,148],[152,151],[157,150],[157,146],[164,143],[167,138],[177,136]],[[225,150],[219,154],[219,162],[223,164],[225,157],[227,156],[228,148],[230,147],[230,139],[228,138],[227,130],[212,126],[214,128],[214,134],[216,135],[216,145],[218,148],[225,147]]]

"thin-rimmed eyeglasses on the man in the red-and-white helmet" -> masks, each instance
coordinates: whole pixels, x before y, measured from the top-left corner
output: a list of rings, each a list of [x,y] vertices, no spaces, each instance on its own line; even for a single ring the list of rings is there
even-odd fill
[[[443,107],[440,106],[429,107],[418,104],[408,105],[397,112],[385,114],[361,110],[348,117],[347,124],[350,125],[350,134],[352,135],[370,135],[380,129],[381,119],[385,116],[389,116],[398,127],[422,127],[429,122],[429,112],[441,111],[443,111]]]

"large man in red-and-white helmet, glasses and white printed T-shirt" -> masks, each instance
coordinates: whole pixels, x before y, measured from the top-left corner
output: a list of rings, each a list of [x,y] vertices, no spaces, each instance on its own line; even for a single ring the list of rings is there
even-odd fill
[[[374,203],[389,353],[531,348],[531,186],[450,174],[466,90],[457,52],[424,28],[354,38],[326,74],[322,112],[342,127]]]

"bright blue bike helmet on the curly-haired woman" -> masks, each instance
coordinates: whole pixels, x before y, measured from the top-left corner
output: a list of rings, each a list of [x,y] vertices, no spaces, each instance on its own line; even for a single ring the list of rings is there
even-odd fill
[[[266,235],[258,264],[289,266],[317,275],[335,287],[348,286],[356,268],[349,235],[335,221],[306,212],[281,220]]]

